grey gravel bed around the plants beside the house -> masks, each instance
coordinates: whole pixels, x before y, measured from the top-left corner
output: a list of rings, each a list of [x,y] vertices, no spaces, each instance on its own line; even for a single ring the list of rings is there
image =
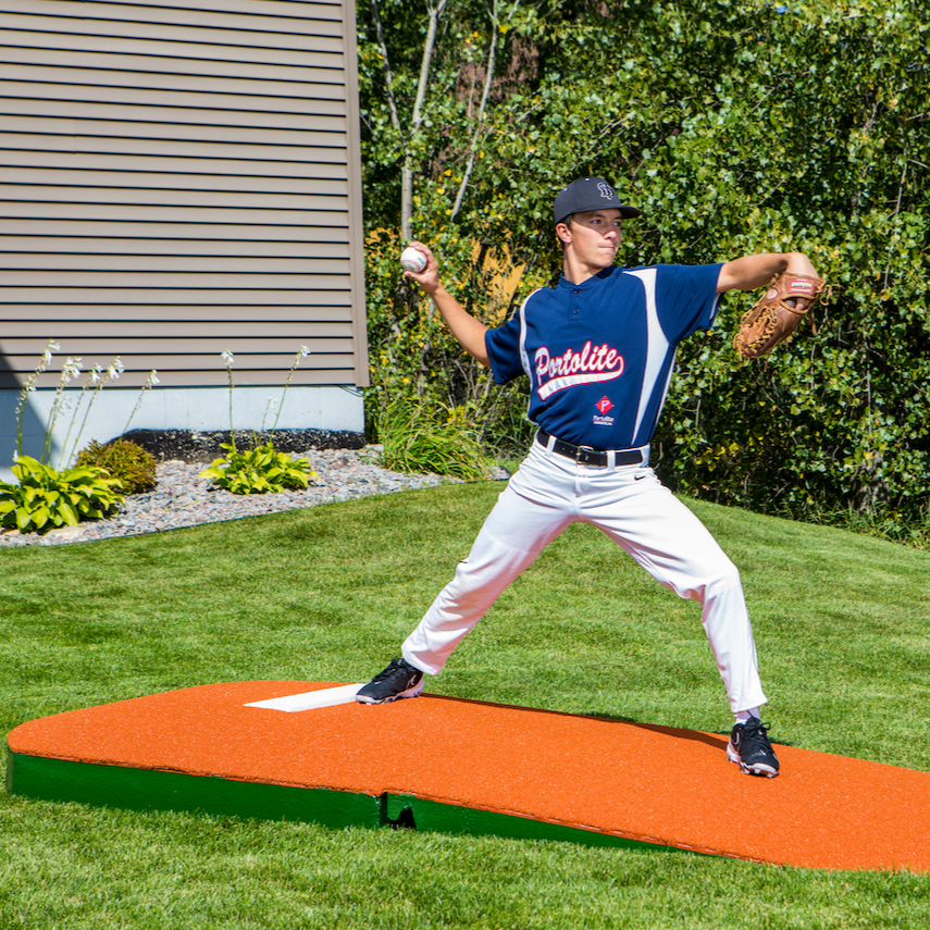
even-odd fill
[[[77,526],[62,526],[44,535],[7,531],[0,535],[0,546],[54,546],[139,533],[161,533],[181,526],[277,513],[457,481],[435,474],[388,471],[377,464],[379,452],[377,446],[363,449],[310,449],[302,455],[310,459],[319,478],[311,479],[306,491],[285,491],[281,494],[239,495],[219,488],[211,489],[209,482],[199,476],[206,464],[166,461],[157,466],[158,483],[154,491],[127,496],[116,517],[79,523]]]

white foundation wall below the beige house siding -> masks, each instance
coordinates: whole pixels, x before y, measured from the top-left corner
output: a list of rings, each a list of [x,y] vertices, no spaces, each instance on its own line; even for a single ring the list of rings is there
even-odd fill
[[[23,454],[42,457],[57,390],[28,395],[22,412]],[[54,468],[73,463],[74,455],[92,439],[106,443],[129,430],[325,430],[364,432],[362,392],[338,385],[281,387],[151,387],[147,390],[107,386],[92,397],[88,389],[62,393],[47,461]],[[0,480],[15,481],[10,470],[16,454],[16,408],[22,394],[0,390]],[[275,402],[269,405],[270,398]],[[232,414],[230,404],[232,399]],[[278,418],[278,410],[281,417]],[[86,421],[85,421],[86,416]]]

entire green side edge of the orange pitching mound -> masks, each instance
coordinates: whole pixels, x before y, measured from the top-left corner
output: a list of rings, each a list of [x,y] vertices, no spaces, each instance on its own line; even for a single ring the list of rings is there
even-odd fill
[[[293,788],[186,772],[107,766],[29,756],[8,749],[7,791],[129,810],[179,810],[260,820],[344,827],[411,827],[434,833],[554,840],[584,846],[691,852],[529,817],[479,810],[406,794],[373,797],[347,791]]]

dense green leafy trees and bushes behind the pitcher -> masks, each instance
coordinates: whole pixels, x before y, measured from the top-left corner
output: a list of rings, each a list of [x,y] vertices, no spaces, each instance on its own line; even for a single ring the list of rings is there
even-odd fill
[[[625,265],[797,249],[834,285],[766,360],[730,347],[748,294],[681,347],[654,446],[665,476],[721,503],[926,532],[930,82],[916,2],[448,0],[416,132],[426,8],[376,3],[384,47],[372,7],[358,9],[375,426],[387,399],[416,394],[488,448],[530,432],[525,385],[491,385],[399,277],[405,154],[413,235],[489,324],[558,269],[555,193],[599,174],[644,213],[624,227]],[[516,288],[501,268],[521,271]]]

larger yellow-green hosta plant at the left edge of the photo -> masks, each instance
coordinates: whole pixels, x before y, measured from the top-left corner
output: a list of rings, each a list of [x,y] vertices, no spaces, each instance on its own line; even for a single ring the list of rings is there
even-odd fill
[[[111,514],[122,503],[123,484],[99,468],[63,471],[30,456],[14,459],[18,484],[0,482],[0,524],[22,533],[46,533]]]

